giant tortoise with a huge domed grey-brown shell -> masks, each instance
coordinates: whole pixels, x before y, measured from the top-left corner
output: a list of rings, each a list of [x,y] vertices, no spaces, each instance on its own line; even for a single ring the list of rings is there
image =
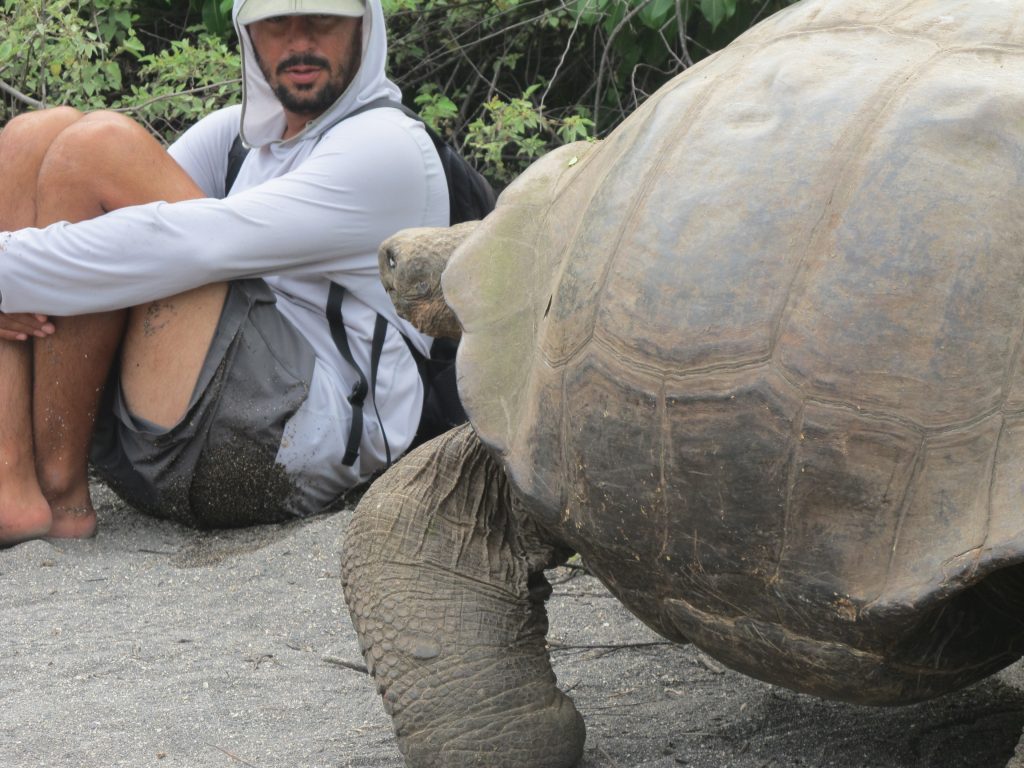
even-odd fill
[[[408,764],[578,760],[545,647],[570,552],[800,691],[910,702],[1016,660],[1022,188],[1024,4],[805,0],[506,189],[441,283],[470,424],[347,534]],[[385,251],[407,303],[421,242]]]

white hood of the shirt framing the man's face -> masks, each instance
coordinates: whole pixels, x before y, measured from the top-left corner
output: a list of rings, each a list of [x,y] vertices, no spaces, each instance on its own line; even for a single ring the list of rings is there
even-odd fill
[[[234,0],[231,18],[242,45],[242,140],[247,146],[264,146],[270,143],[291,144],[315,138],[353,110],[379,98],[401,100],[398,86],[387,79],[387,35],[384,11],[380,0],[366,0],[367,12],[362,17],[362,58],[355,79],[338,100],[323,115],[311,121],[305,129],[282,141],[285,132],[285,111],[263,77],[256,62],[249,33],[239,26],[239,11],[247,0]]]

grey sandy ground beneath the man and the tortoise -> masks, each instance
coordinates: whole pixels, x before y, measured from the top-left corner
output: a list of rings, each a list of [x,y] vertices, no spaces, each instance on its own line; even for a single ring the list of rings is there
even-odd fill
[[[0,766],[400,768],[342,600],[348,512],[198,532],[94,490],[97,538],[0,551]],[[581,768],[992,768],[1024,724],[1020,665],[926,705],[837,705],[664,643],[590,577],[552,578]]]

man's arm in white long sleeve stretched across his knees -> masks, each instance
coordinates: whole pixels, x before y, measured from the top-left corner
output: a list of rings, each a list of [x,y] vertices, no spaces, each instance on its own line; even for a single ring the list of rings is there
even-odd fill
[[[423,152],[402,120],[345,121],[294,170],[225,200],[154,203],[0,233],[0,311],[82,314],[236,278],[376,274],[384,238],[437,223],[423,221]],[[252,183],[280,170],[272,151],[254,155],[240,183],[247,172]]]

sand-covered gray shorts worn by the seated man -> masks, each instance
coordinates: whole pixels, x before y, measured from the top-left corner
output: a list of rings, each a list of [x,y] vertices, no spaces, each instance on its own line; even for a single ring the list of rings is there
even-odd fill
[[[188,409],[170,429],[132,416],[111,377],[91,459],[128,504],[204,528],[291,516],[299,489],[274,459],[315,358],[274,303],[262,280],[230,284]]]

